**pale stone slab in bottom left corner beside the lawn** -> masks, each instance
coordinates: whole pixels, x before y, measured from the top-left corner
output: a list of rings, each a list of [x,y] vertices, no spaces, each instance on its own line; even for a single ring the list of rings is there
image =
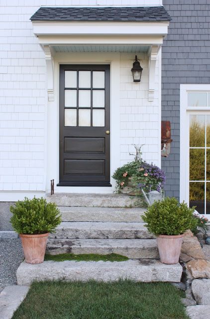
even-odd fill
[[[0,293],[0,318],[11,319],[15,310],[19,307],[29,287],[7,286]]]

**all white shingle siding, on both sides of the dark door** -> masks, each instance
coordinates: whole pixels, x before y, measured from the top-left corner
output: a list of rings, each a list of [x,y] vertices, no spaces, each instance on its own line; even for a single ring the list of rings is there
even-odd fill
[[[0,14],[0,190],[46,188],[46,67],[30,16],[41,5],[160,5],[160,0],[1,0]],[[134,53],[120,53],[120,160],[131,160],[131,144],[145,144],[145,160],[159,162],[159,91],[148,102],[148,58],[138,53],[142,82],[133,83]],[[157,89],[159,81],[157,63]],[[49,182],[49,181],[48,181]]]

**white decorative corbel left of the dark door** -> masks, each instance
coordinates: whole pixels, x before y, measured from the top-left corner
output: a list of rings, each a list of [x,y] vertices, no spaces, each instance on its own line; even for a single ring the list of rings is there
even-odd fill
[[[49,45],[43,45],[47,67],[47,93],[48,101],[54,101],[54,60]]]

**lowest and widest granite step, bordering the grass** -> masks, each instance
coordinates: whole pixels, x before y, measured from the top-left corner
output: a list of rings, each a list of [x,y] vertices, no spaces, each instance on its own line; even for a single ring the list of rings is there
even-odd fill
[[[31,265],[21,263],[16,272],[18,285],[30,285],[33,281],[117,281],[130,279],[135,282],[180,282],[182,266],[165,265],[153,259],[129,259],[123,262],[45,261]]]

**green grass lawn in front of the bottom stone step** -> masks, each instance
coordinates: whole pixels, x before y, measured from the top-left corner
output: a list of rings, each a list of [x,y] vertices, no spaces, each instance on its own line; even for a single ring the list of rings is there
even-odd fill
[[[168,283],[33,283],[12,319],[188,319]]]

